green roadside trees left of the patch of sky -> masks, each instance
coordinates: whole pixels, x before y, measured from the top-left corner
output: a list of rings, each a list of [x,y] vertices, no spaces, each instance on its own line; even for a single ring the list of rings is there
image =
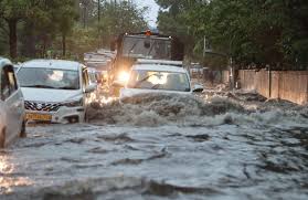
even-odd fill
[[[0,54],[81,56],[109,46],[123,32],[147,28],[146,8],[128,1],[99,2],[98,9],[97,0],[0,0]]]

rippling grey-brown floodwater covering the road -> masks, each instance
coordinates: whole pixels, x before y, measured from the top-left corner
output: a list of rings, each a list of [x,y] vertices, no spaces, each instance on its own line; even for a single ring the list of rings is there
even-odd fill
[[[308,199],[306,106],[208,91],[102,97],[89,118],[0,151],[0,199]]]

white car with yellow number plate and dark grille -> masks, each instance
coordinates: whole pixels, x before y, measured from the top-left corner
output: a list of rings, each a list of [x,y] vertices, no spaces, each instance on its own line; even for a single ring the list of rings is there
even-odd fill
[[[18,77],[24,95],[26,119],[47,123],[83,123],[95,85],[87,67],[62,60],[33,60],[22,64]]]

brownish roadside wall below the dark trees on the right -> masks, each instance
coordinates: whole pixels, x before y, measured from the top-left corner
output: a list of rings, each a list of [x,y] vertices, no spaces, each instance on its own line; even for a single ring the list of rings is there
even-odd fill
[[[267,98],[280,98],[297,104],[308,104],[307,71],[253,71],[238,72],[241,87],[256,91]]]

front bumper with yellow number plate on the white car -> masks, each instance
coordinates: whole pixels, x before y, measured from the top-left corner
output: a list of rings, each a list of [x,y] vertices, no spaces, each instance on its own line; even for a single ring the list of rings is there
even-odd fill
[[[68,123],[83,123],[85,118],[84,107],[61,107],[57,112],[41,112],[41,110],[28,110],[28,122],[40,122],[40,123],[56,123],[56,124],[68,124]]]

